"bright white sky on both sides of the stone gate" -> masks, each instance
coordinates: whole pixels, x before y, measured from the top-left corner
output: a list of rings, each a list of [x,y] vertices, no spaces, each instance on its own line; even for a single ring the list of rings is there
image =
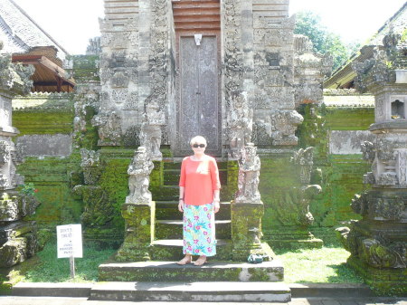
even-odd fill
[[[103,0],[14,0],[43,29],[72,54],[84,53],[98,36]],[[405,3],[404,0],[290,0],[289,14],[309,10],[345,43],[363,43]]]

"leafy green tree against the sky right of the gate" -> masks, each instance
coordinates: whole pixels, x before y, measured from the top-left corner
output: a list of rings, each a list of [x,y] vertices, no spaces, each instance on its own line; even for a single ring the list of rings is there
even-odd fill
[[[299,12],[294,33],[308,36],[314,45],[314,51],[325,54],[329,52],[334,60],[334,71],[340,67],[358,48],[357,43],[346,45],[340,36],[329,32],[321,23],[318,14],[309,11]]]

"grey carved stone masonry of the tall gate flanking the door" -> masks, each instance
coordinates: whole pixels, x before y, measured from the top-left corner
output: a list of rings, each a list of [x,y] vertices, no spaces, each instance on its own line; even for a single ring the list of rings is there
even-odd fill
[[[238,148],[250,142],[264,148],[297,145],[295,130],[302,117],[296,105],[322,100],[329,61],[312,54],[305,39],[295,38],[289,0],[225,0],[221,5],[221,50],[213,54],[221,63],[216,88],[222,97],[222,129],[216,132],[222,138],[222,155],[229,152],[237,158]],[[172,2],[105,0],[105,13],[100,20],[99,114],[93,120],[99,127],[99,146],[120,146],[128,130],[138,129],[141,145],[153,151],[153,159],[160,159],[157,146],[170,145],[176,151],[179,145],[175,118],[183,114],[175,113],[180,109],[175,105],[175,84],[188,75],[179,73],[175,60],[175,49],[182,43],[175,35]],[[241,121],[230,118],[239,112],[236,97],[251,110]],[[148,118],[149,107],[162,118],[159,122]]]

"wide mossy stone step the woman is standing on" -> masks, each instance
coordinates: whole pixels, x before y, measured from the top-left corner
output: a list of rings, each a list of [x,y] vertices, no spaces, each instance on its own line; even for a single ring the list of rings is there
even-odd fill
[[[99,281],[283,281],[284,267],[270,262],[209,261],[198,267],[172,262],[107,262],[99,265]]]

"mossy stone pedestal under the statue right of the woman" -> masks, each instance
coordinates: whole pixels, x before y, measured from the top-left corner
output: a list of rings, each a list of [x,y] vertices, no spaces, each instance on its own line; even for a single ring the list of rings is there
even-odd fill
[[[270,247],[261,243],[261,217],[264,205],[232,202],[232,260],[246,262],[250,254],[272,256]]]

